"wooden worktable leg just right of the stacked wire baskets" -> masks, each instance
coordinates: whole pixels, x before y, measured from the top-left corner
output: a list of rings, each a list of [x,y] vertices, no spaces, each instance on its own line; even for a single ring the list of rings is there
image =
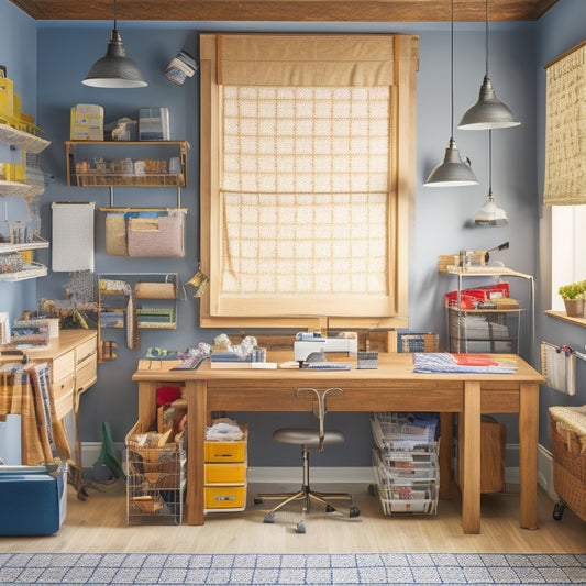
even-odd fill
[[[480,532],[480,383],[464,383],[464,412],[461,417],[464,424],[460,463],[463,471],[462,480],[462,529],[464,533]]]

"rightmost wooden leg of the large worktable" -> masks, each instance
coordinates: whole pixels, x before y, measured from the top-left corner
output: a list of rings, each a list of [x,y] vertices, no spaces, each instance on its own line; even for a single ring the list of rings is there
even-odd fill
[[[538,528],[539,385],[521,383],[519,392],[520,524]]]

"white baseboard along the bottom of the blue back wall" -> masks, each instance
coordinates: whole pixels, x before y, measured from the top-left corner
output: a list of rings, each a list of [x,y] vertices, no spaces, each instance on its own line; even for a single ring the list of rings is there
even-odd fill
[[[81,462],[85,468],[93,468],[101,452],[101,442],[84,442],[81,444]],[[121,454],[124,444],[114,444],[117,453]],[[519,461],[519,444],[507,444],[507,461]],[[300,466],[251,466],[248,468],[248,482],[251,483],[276,483],[296,484],[301,480]],[[371,466],[354,467],[312,467],[311,480],[314,483],[358,483],[372,484],[376,482]],[[507,466],[505,468],[505,482],[519,484],[519,467]],[[557,500],[553,489],[553,457],[549,450],[538,445],[538,484],[548,493],[552,500]]]

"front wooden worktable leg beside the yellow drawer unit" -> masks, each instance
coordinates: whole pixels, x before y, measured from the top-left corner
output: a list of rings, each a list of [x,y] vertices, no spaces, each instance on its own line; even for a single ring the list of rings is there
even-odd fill
[[[188,524],[203,524],[203,461],[206,441],[206,405],[208,386],[204,380],[186,380],[187,396],[187,487]]]

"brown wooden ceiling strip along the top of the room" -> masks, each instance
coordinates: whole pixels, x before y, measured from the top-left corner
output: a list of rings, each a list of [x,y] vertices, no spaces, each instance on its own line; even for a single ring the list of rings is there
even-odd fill
[[[490,0],[490,21],[534,21],[560,0]],[[110,20],[113,0],[11,0],[35,20]],[[446,22],[451,0],[118,0],[120,21]],[[485,20],[485,0],[455,0],[454,20]]]

